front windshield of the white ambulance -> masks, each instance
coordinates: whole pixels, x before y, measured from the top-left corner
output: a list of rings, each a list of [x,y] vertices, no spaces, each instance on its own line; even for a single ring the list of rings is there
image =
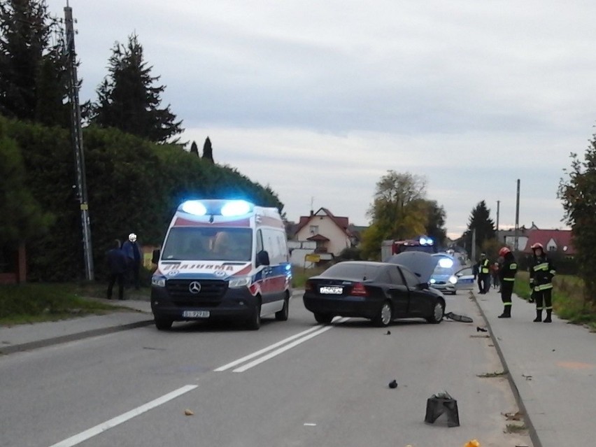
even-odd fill
[[[163,261],[246,261],[253,253],[250,228],[173,227],[164,248]]]

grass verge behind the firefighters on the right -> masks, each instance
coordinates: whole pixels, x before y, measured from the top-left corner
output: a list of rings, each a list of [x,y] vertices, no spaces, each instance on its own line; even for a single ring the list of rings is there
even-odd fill
[[[596,308],[584,299],[583,281],[577,276],[559,275],[553,278],[553,310],[563,320],[576,325],[588,325],[596,331]],[[530,298],[530,275],[520,271],[513,288],[518,297]]]

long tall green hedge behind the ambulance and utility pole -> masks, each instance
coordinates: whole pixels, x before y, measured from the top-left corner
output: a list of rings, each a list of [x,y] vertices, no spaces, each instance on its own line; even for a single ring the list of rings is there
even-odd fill
[[[25,165],[26,187],[54,223],[27,239],[29,281],[85,277],[83,236],[71,138],[68,131],[0,117]],[[0,132],[1,133],[1,132]],[[158,145],[116,129],[83,132],[85,171],[96,278],[106,277],[105,254],[131,232],[142,245],[159,245],[184,199],[236,197],[261,206],[283,204],[269,187],[236,169],[219,166],[179,146]],[[3,212],[0,204],[0,212]]]

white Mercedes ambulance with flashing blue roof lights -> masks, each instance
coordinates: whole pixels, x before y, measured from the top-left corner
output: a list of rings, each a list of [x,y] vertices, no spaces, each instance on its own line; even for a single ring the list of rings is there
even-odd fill
[[[174,321],[288,320],[292,268],[277,208],[243,200],[189,200],[178,206],[162,248],[153,253],[155,327]]]

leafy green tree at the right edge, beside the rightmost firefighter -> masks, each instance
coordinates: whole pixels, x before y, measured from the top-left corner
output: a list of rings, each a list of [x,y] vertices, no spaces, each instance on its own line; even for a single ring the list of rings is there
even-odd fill
[[[559,182],[558,198],[565,210],[565,222],[572,229],[579,276],[586,285],[585,299],[596,304],[596,134],[593,134],[583,161],[571,154],[569,178]]]

